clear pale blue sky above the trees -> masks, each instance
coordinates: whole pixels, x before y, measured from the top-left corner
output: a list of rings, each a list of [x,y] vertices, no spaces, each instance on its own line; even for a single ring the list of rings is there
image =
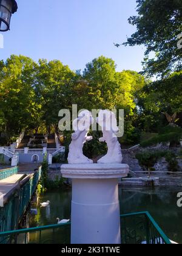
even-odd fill
[[[141,71],[143,47],[115,48],[135,32],[127,19],[136,14],[136,0],[18,0],[11,30],[3,33],[0,59],[22,54],[59,59],[71,69],[84,69],[99,55],[111,57],[117,70]]]

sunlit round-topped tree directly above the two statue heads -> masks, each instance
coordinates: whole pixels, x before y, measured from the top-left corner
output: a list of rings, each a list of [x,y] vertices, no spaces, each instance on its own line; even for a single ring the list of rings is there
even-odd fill
[[[116,72],[115,62],[103,56],[86,65],[83,79],[87,83],[87,107],[123,108],[126,115],[132,115],[136,92],[145,84],[144,77],[134,71]]]

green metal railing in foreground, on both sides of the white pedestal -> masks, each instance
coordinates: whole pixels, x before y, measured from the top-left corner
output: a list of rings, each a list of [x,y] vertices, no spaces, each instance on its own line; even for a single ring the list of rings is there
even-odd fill
[[[0,244],[70,244],[70,222],[0,233]],[[148,212],[121,215],[121,244],[170,244]]]

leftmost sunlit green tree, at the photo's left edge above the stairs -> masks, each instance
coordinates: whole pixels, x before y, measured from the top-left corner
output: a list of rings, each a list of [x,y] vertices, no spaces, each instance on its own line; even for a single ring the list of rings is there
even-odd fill
[[[8,138],[30,127],[36,119],[35,69],[36,63],[22,55],[1,62],[0,122]]]

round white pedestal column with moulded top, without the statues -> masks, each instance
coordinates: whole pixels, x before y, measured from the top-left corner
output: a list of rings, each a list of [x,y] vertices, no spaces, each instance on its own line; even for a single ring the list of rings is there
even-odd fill
[[[62,165],[62,176],[72,179],[72,244],[120,244],[118,179],[128,165]]]

